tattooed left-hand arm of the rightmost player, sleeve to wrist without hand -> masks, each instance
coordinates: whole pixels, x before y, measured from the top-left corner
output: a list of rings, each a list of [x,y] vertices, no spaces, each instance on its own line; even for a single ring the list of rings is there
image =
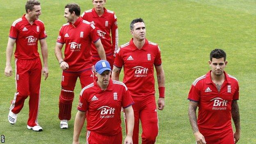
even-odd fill
[[[190,125],[192,127],[193,133],[199,131],[197,126],[197,105],[198,102],[190,101],[188,107],[188,117],[190,120]]]

